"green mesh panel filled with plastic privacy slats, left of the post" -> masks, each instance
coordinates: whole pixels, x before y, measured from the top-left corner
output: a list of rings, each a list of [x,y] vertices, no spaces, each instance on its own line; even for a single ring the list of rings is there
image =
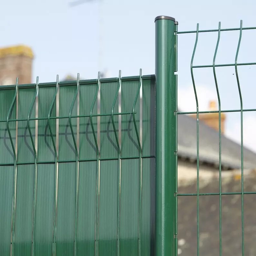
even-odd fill
[[[153,255],[155,77],[0,87],[0,254]]]

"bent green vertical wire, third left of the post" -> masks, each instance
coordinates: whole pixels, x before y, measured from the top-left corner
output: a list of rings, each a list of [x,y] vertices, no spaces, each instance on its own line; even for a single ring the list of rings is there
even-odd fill
[[[98,73],[98,80],[97,80],[97,89],[94,95],[94,99],[91,104],[90,109],[90,123],[91,123],[91,129],[93,133],[93,138],[96,146],[96,154],[97,154],[97,166],[96,166],[96,223],[95,223],[95,256],[98,256],[98,226],[99,226],[99,147],[98,147],[98,141],[97,136],[95,133],[94,125],[92,122],[92,111],[95,105],[95,102],[98,97],[98,92],[100,88],[100,72]],[[98,127],[98,126],[97,126]],[[99,129],[98,129],[99,134]]]

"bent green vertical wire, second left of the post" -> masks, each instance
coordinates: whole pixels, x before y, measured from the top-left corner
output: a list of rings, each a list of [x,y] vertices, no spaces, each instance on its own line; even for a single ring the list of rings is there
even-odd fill
[[[120,150],[120,145],[119,145],[119,139],[118,139],[118,135],[117,135],[117,129],[116,129],[116,125],[114,122],[114,107],[116,105],[116,101],[117,101],[117,97],[119,94],[119,89],[120,89],[120,85],[121,85],[121,70],[119,70],[119,80],[118,80],[118,88],[117,88],[117,92],[112,104],[112,109],[111,109],[111,120],[112,120],[112,125],[113,125],[113,129],[114,129],[114,133],[115,133],[115,138],[116,138],[116,143],[117,143],[117,147],[118,147],[118,209],[117,209],[117,219],[118,219],[118,230],[117,230],[117,255],[119,256],[120,254],[120,249],[119,249],[119,233],[120,233],[120,155],[121,155],[121,150]]]

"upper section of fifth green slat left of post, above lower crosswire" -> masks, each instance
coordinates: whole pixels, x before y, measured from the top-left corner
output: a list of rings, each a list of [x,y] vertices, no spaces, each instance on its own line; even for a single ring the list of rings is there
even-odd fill
[[[59,116],[68,117],[70,107],[76,92],[76,86],[61,86],[59,100]],[[77,115],[77,100],[71,116]],[[71,118],[71,123],[77,137],[77,119]],[[75,147],[68,118],[59,119],[59,160],[75,160]]]

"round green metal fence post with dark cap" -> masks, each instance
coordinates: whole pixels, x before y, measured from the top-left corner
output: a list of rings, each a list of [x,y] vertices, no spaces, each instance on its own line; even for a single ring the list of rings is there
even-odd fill
[[[156,256],[174,256],[175,19],[156,24]]]

